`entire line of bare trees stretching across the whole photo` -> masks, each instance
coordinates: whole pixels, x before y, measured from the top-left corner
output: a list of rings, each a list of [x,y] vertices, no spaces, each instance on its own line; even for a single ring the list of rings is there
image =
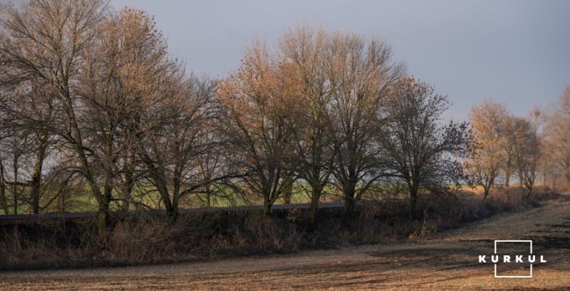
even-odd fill
[[[500,173],[509,184],[516,172],[529,190],[538,171],[570,177],[570,97],[548,120],[487,102],[471,125],[444,122],[447,97],[377,38],[291,29],[274,47],[253,43],[238,70],[211,80],[185,72],[144,11],[38,0],[2,12],[6,214],[19,203],[41,213],[75,191],[96,202],[100,229],[115,208],[150,208],[148,196],[172,221],[188,196],[210,206],[237,195],[269,216],[302,188],[312,222],[331,189],[348,216],[371,193],[406,193],[416,219],[423,191],[471,181],[487,196]]]

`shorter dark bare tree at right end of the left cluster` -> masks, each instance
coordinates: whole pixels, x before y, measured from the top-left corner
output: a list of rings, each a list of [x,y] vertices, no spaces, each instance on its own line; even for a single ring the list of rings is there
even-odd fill
[[[170,121],[139,139],[147,179],[159,192],[171,221],[177,219],[181,199],[212,190],[212,184],[227,177],[209,159],[222,152],[214,138],[211,83],[192,77],[172,90],[176,88],[182,90],[162,108],[168,115],[161,118]]]

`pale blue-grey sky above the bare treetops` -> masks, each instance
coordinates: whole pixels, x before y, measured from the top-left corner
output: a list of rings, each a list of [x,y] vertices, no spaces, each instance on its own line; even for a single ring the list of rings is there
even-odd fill
[[[155,16],[187,68],[227,75],[254,38],[270,45],[299,25],[379,36],[409,73],[453,103],[464,120],[487,97],[519,115],[570,85],[570,1],[112,0]]]

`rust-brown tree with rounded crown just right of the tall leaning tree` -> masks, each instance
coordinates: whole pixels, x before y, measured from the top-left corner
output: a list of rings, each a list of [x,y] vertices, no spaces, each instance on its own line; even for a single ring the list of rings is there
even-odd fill
[[[170,60],[152,17],[134,9],[108,17],[98,46],[86,53],[86,63],[77,94],[83,100],[92,166],[100,173],[105,208],[112,201],[127,208],[134,202],[130,192],[137,174],[137,142],[170,122],[170,110],[184,90],[183,72]]]

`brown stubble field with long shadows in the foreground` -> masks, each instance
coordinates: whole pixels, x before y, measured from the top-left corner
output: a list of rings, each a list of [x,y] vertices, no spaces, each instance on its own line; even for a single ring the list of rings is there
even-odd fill
[[[492,254],[497,239],[532,239],[533,253],[547,263],[534,265],[532,279],[494,278],[493,265],[477,258]],[[0,273],[0,290],[570,290],[569,255],[570,202],[556,202],[431,240],[208,263]]]

